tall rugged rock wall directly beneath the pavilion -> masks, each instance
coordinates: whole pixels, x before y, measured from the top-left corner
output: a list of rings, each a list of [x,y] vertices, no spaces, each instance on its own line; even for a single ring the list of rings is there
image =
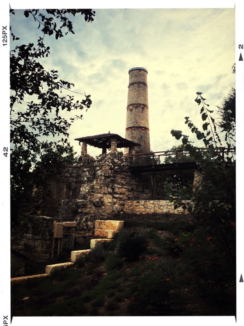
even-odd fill
[[[29,215],[76,221],[78,242],[92,237],[96,219],[111,219],[123,211],[126,200],[151,198],[149,176],[132,174],[129,166],[113,153],[105,153],[98,160],[83,154],[78,164],[66,163],[58,171],[49,171],[46,177],[46,187],[34,188],[31,202],[22,205],[19,220],[30,228],[33,217]],[[24,238],[28,232],[23,233],[20,227]],[[14,236],[13,243],[19,251],[23,246],[21,235]]]

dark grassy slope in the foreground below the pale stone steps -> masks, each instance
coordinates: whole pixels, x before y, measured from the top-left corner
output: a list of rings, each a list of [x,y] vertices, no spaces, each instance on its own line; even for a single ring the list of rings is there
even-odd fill
[[[188,278],[186,268],[181,267],[181,262],[178,262],[174,252],[174,239],[182,231],[189,231],[189,223],[187,221],[171,221],[171,222],[138,222],[127,220],[125,227],[128,228],[151,228],[148,232],[150,239],[150,247],[143,254],[143,257],[135,261],[126,261],[118,257],[113,251],[114,242],[104,246],[105,261],[95,264],[87,260],[85,265],[78,266],[76,269],[71,268],[60,271],[56,275],[42,280],[35,280],[27,283],[24,287],[21,285],[13,287],[12,302],[14,307],[14,316],[135,316],[135,314],[149,314],[153,311],[148,303],[154,304],[153,314],[160,313],[167,315],[193,315],[197,311],[207,314],[213,307],[206,308],[209,304],[209,299],[206,302],[205,298],[201,299],[199,293],[194,288],[194,279]],[[175,229],[176,227],[176,229]],[[192,230],[192,225],[190,225]],[[155,230],[174,229],[172,238],[163,239],[156,234]],[[197,239],[197,238],[196,238]],[[113,245],[112,245],[113,244]],[[111,252],[112,251],[112,252]],[[165,256],[171,256],[165,259]],[[157,260],[149,260],[149,257],[158,257]],[[167,261],[166,274],[164,275],[164,261]],[[182,263],[183,264],[183,263]],[[158,266],[158,267],[157,267]],[[157,269],[158,268],[158,269]],[[154,274],[154,271],[156,271]],[[144,274],[143,274],[144,273]],[[160,274],[161,273],[161,274]],[[158,275],[158,276],[157,276]],[[167,281],[169,278],[169,281]],[[94,280],[97,280],[96,282]],[[91,284],[87,290],[77,288],[77,284],[82,284],[88,280]],[[173,283],[169,283],[172,280]],[[168,304],[156,302],[157,293],[164,284],[164,288],[169,288],[170,296],[172,295],[173,302],[170,303],[172,308],[166,307]],[[142,290],[148,287],[148,291]],[[76,289],[77,288],[77,289]],[[163,288],[163,289],[164,289]],[[182,292],[182,289],[189,288],[189,295]],[[80,289],[80,291],[79,291]],[[163,291],[162,289],[162,291]],[[161,291],[161,292],[162,292]],[[160,292],[160,293],[161,293]],[[142,296],[144,295],[144,302]],[[144,293],[144,294],[143,294]],[[167,293],[166,293],[167,294]],[[166,295],[165,294],[165,295]],[[152,295],[152,298],[147,300],[147,296]],[[161,293],[162,297],[164,293]],[[167,294],[168,295],[168,294]],[[166,297],[168,298],[168,296]],[[210,291],[210,295],[211,291]],[[33,297],[33,300],[26,301],[23,305],[22,298],[24,296]],[[133,299],[132,299],[133,298]],[[56,299],[58,299],[56,301]],[[218,299],[218,297],[217,297]],[[138,300],[138,305],[136,301]],[[167,299],[168,300],[168,299]],[[202,305],[197,300],[203,300]],[[55,302],[56,301],[56,302]],[[154,302],[155,301],[155,302]],[[142,303],[142,308],[141,304]],[[182,302],[184,302],[184,311],[182,311]],[[189,304],[199,306],[188,307]],[[144,306],[143,306],[144,304]],[[204,306],[205,305],[205,306]],[[163,308],[165,306],[165,308]],[[197,307],[198,307],[197,306]],[[144,308],[143,308],[144,307]],[[156,308],[155,308],[156,307]],[[157,311],[157,307],[160,310]],[[141,310],[140,310],[141,309]],[[167,310],[168,309],[168,310]],[[197,310],[198,309],[198,310]],[[224,309],[222,309],[224,310]],[[230,310],[230,309],[229,309]],[[214,312],[215,313],[215,312]]]

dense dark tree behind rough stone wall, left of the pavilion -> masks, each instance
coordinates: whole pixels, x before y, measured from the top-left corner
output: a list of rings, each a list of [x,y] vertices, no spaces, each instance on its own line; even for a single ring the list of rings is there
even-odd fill
[[[10,202],[11,221],[17,222],[19,206],[28,202],[35,187],[45,187],[48,175],[59,170],[64,162],[77,163],[73,146],[43,142],[38,153],[31,153],[23,145],[15,145],[11,152]],[[46,173],[45,180],[43,172]]]

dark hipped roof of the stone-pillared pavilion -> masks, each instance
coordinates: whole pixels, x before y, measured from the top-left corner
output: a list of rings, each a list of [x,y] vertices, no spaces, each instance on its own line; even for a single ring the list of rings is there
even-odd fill
[[[111,147],[111,138],[117,139],[117,148],[121,147],[130,147],[130,146],[141,146],[134,141],[129,141],[117,134],[101,134],[87,137],[75,138],[75,141],[86,142],[90,146],[98,147],[98,148],[110,148]]]

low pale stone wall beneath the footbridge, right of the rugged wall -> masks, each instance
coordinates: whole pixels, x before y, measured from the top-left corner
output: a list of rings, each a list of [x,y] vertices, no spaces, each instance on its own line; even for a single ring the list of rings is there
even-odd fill
[[[189,200],[183,200],[189,203]],[[129,214],[188,214],[183,208],[174,210],[174,204],[169,200],[128,200],[123,207],[124,213]]]

